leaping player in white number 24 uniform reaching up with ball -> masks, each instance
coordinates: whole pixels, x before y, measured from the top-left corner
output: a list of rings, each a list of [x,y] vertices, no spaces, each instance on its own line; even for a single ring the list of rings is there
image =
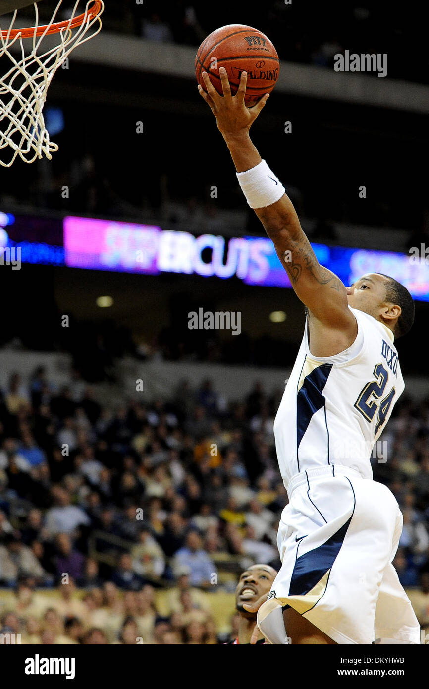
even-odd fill
[[[307,307],[304,338],[275,418],[289,504],[278,548],[282,567],[258,626],[272,644],[419,644],[419,624],[392,561],[402,529],[393,493],[373,481],[370,454],[404,390],[395,337],[414,320],[406,288],[382,274],[345,287],[322,267],[284,187],[261,160],[249,129],[268,95],[244,105],[220,68],[198,90],[216,116],[249,205]],[[256,638],[256,637],[255,637]]]

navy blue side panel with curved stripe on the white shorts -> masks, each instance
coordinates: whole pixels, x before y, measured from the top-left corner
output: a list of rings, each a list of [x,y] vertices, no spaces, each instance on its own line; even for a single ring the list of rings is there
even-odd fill
[[[353,491],[353,486],[350,480],[348,478],[347,480],[350,483],[350,487]],[[326,575],[326,572],[328,572],[328,570],[330,570],[333,566],[335,558],[337,557],[344,538],[346,537],[348,526],[350,526],[353,514],[355,513],[355,491],[353,491],[353,499],[353,511],[343,526],[340,526],[338,531],[336,531],[318,548],[314,548],[312,551],[308,551],[308,553],[304,553],[304,555],[296,557],[295,566],[293,568],[291,577],[291,584],[289,586],[289,596],[306,595],[306,593],[311,591],[311,589],[314,588],[318,582],[320,582],[320,579],[322,579],[322,577]],[[302,543],[302,541],[298,543],[298,547],[300,543]]]

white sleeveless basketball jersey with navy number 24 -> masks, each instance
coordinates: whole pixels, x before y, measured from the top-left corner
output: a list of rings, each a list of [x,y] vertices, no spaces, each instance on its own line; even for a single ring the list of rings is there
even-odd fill
[[[350,310],[357,320],[357,337],[335,356],[310,353],[306,320],[274,422],[285,487],[301,471],[333,465],[335,472],[335,464],[373,477],[373,446],[404,391],[404,379],[392,331],[373,316]]]

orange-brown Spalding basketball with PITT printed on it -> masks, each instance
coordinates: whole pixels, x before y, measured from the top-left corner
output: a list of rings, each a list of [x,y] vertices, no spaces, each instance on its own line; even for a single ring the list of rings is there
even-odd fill
[[[229,24],[211,32],[202,41],[195,58],[198,83],[205,90],[202,72],[207,72],[214,88],[222,95],[219,68],[227,70],[231,93],[237,92],[242,72],[247,72],[244,103],[251,106],[271,93],[278,80],[280,63],[277,50],[262,31],[244,24]]]

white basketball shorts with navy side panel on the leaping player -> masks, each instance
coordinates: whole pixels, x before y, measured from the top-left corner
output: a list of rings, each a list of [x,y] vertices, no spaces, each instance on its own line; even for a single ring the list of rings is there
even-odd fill
[[[302,471],[287,491],[282,567],[269,599],[295,608],[337,644],[419,644],[417,617],[392,564],[402,531],[393,493],[337,465]]]

